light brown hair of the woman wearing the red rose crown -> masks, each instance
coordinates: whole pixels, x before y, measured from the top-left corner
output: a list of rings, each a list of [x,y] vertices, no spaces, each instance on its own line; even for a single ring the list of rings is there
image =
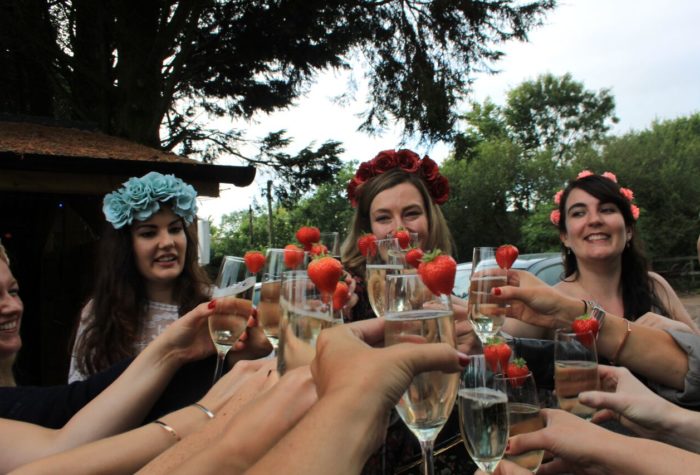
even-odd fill
[[[423,205],[428,217],[428,239],[426,250],[440,249],[446,254],[452,254],[454,240],[445,221],[440,207],[436,205],[428,193],[425,182],[417,173],[410,173],[400,168],[391,169],[365,182],[357,193],[357,208],[350,223],[350,230],[340,249],[341,259],[346,269],[355,275],[364,275],[365,257],[357,248],[357,240],[365,233],[372,232],[369,209],[374,198],[384,190],[402,183],[410,183],[418,189],[423,197]]]

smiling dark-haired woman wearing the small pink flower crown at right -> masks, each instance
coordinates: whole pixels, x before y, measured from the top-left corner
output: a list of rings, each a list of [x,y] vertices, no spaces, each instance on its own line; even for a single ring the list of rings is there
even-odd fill
[[[559,229],[564,280],[555,287],[636,325],[700,334],[669,283],[648,270],[640,250],[634,193],[611,172],[578,174],[556,193],[550,220]],[[542,328],[510,320],[517,336],[541,338]]]

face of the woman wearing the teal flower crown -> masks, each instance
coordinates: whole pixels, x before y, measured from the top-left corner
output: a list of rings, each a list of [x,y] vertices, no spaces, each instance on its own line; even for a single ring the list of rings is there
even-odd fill
[[[167,206],[131,226],[136,267],[149,283],[169,284],[185,267],[187,236],[182,219]]]

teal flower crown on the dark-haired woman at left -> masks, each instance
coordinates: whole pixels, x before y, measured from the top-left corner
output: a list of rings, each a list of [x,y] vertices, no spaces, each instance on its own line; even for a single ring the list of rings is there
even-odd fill
[[[165,203],[187,224],[197,215],[197,192],[175,175],[149,172],[141,178],[129,178],[123,185],[108,193],[102,204],[102,212],[114,229],[134,220],[147,220]]]

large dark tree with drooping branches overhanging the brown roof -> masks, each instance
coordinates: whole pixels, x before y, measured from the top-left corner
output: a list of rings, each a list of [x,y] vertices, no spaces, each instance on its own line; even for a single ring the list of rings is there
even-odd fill
[[[554,0],[8,0],[0,7],[0,105],[5,112],[91,121],[108,134],[166,150],[181,147],[207,159],[226,151],[258,163],[239,151],[239,132],[206,124],[287,107],[319,71],[348,68],[349,58],[359,57],[371,96],[365,130],[399,120],[407,133],[445,138],[473,71],[502,55],[498,43],[526,40],[554,6]]]

